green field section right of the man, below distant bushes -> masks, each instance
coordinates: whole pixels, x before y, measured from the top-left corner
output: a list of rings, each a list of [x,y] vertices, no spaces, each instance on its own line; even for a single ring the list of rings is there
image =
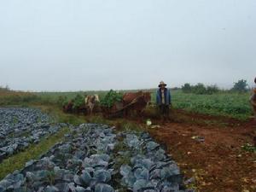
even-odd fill
[[[213,95],[195,95],[173,91],[172,103],[174,108],[189,112],[248,119],[253,114],[249,96],[249,93],[221,92]]]

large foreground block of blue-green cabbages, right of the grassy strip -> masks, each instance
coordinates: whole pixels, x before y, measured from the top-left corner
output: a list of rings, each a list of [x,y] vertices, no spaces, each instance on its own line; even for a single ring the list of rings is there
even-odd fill
[[[107,125],[71,127],[40,160],[0,182],[0,192],[181,192],[176,163],[147,133],[114,133]]]

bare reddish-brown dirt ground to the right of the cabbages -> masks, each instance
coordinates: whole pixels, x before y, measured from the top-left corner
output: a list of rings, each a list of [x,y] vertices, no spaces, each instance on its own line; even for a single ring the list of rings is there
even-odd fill
[[[178,122],[150,133],[166,145],[185,177],[196,178],[192,185],[197,191],[251,192],[256,191],[256,154],[241,150],[241,145],[253,143],[254,130],[253,122],[228,126]],[[205,141],[191,138],[195,136]]]

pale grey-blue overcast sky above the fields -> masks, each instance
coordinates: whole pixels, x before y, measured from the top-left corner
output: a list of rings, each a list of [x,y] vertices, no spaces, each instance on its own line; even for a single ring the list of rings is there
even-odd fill
[[[0,85],[230,87],[256,76],[255,0],[0,0]]]

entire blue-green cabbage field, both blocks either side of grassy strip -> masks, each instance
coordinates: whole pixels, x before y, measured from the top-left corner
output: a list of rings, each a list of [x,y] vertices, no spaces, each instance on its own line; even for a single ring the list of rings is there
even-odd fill
[[[3,159],[64,126],[70,130],[38,160],[9,172],[0,181],[0,192],[191,191],[176,162],[148,133],[115,131],[108,125],[54,124],[38,109],[0,108],[0,115]]]

